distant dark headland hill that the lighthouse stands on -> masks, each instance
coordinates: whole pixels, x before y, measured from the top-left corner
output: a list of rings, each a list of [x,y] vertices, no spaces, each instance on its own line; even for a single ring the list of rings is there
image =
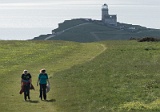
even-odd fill
[[[159,29],[151,29],[139,25],[118,23],[108,26],[98,20],[73,19],[66,20],[54,29],[53,34],[40,35],[33,40],[65,40],[75,42],[96,42],[103,40],[129,40],[132,38],[160,38]]]

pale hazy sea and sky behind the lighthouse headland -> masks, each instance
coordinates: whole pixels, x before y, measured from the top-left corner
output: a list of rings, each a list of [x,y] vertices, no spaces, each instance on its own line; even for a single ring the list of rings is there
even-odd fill
[[[64,20],[100,20],[104,3],[109,5],[110,14],[117,14],[118,22],[160,29],[160,0],[0,0],[0,39],[7,37],[5,30],[10,28],[17,28],[14,32],[18,28],[41,28],[36,34],[28,31],[38,35],[40,31],[51,32]],[[20,38],[18,35],[15,38]]]

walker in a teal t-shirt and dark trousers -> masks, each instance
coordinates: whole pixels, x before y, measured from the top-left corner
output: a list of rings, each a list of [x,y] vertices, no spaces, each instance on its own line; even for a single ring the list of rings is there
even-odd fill
[[[38,76],[38,81],[37,81],[37,86],[38,84],[40,85],[40,95],[39,97],[44,100],[47,99],[46,95],[46,88],[47,84],[50,85],[49,79],[48,79],[48,74],[46,73],[45,69],[40,70],[40,74]]]

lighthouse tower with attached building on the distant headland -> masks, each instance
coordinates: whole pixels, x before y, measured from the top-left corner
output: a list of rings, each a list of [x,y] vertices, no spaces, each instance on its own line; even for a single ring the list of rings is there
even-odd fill
[[[102,5],[102,22],[105,24],[117,26],[117,15],[109,15],[108,5]]]

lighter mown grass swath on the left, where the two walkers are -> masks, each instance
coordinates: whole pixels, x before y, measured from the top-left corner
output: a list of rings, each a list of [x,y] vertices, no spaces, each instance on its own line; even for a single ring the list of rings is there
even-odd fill
[[[51,87],[53,74],[85,63],[103,51],[98,43],[80,44],[62,41],[0,41],[0,111],[1,112],[56,112],[54,89],[48,93],[48,101],[39,99],[36,86],[39,70],[45,68]],[[31,101],[24,102],[19,94],[21,74],[24,69],[32,75],[35,91]],[[54,77],[53,77],[54,78]]]

